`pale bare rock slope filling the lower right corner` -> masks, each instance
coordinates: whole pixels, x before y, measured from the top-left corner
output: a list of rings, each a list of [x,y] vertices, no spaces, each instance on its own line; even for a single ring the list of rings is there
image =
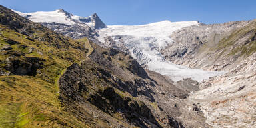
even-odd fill
[[[254,53],[227,74],[200,84],[211,83],[189,99],[200,103],[207,123],[214,127],[254,127],[255,118],[255,59]]]

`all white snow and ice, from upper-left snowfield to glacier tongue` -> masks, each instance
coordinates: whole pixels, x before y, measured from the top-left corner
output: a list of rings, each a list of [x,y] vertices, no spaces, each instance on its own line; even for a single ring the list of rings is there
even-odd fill
[[[88,25],[99,34],[96,37],[99,41],[98,43],[105,43],[105,37],[111,37],[117,46],[124,45],[129,50],[129,53],[131,53],[131,56],[137,59],[143,67],[162,75],[167,75],[173,81],[191,78],[201,82],[209,79],[209,77],[225,73],[223,71],[203,71],[201,69],[190,69],[182,65],[175,65],[167,61],[160,53],[161,49],[173,43],[170,35],[174,31],[191,25],[199,25],[198,21],[161,21],[147,25],[107,25],[105,27],[105,24],[101,22],[97,15],[94,15],[98,18],[95,20],[92,19],[93,15],[90,17],[80,17],[67,13],[63,9],[48,12],[38,11],[35,13],[15,12],[33,22]],[[100,21],[98,24],[102,25],[96,28],[97,21]]]

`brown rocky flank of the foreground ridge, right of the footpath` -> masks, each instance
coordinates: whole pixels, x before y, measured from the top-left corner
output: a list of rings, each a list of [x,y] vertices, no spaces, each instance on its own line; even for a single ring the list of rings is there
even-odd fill
[[[209,127],[203,121],[190,121],[204,119],[202,113],[181,107],[193,107],[180,99],[187,92],[165,77],[145,71],[126,53],[91,45],[90,59],[81,65],[74,63],[59,79],[59,99],[68,109],[76,109],[78,116],[93,111],[91,119],[103,119],[109,127],[130,127],[115,118],[137,127]]]

